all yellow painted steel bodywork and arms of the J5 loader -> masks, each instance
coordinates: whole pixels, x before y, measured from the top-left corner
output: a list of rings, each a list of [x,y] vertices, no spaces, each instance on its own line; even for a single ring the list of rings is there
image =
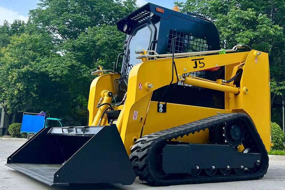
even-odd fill
[[[256,51],[252,50],[251,52],[200,56],[199,58],[204,58],[203,63],[205,66],[203,70],[225,66],[226,79],[234,76],[238,69],[243,69],[241,87],[238,89],[239,93],[234,94],[237,93],[237,90],[233,86],[233,82],[230,83],[232,86],[229,85],[231,87],[229,90],[232,93],[225,92],[224,110],[168,103],[167,112],[158,113],[157,102],[150,101],[150,99],[154,90],[168,85],[171,81],[172,59],[148,60],[135,65],[129,74],[127,99],[117,120],[118,130],[128,154],[130,154],[130,147],[134,144],[134,141],[143,135],[213,115],[234,112],[247,113],[253,119],[266,149],[270,150],[268,54],[262,52],[261,55],[257,56]],[[174,59],[179,75],[201,70],[201,68],[193,68],[195,65],[192,59],[191,57]],[[118,75],[105,74],[97,77],[92,82],[88,104],[89,124],[92,123],[96,115],[96,105],[101,98],[101,91],[115,92],[113,82],[115,78],[118,78]],[[176,77],[174,77],[173,83],[176,83],[176,81]],[[196,82],[196,85],[199,86],[199,81]],[[148,84],[152,84],[153,87],[149,88]],[[207,85],[207,83],[204,85]],[[217,83],[215,85],[214,89],[220,88]],[[224,91],[223,88],[217,90]],[[246,89],[248,89],[247,92]],[[172,93],[175,93],[175,91]],[[119,108],[116,107],[115,109]],[[135,113],[137,113],[137,116],[134,118]],[[207,143],[208,131],[189,135],[184,137],[183,141]]]

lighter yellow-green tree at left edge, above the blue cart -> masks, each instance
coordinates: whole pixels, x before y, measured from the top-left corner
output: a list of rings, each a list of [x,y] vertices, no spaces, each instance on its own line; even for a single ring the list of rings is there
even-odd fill
[[[49,36],[21,34],[12,36],[0,52],[0,104],[9,116],[39,105],[40,88],[47,81],[39,70],[42,57],[53,54]],[[7,130],[6,130],[7,131]]]

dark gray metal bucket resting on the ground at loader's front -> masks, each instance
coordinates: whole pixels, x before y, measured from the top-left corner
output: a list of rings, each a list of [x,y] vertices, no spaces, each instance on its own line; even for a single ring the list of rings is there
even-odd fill
[[[44,128],[9,156],[6,166],[47,185],[131,185],[136,178],[114,124]]]

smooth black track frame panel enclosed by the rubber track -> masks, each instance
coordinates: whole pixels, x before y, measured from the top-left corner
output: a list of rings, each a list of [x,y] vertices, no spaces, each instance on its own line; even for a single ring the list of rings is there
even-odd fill
[[[179,155],[179,156],[178,156]],[[163,149],[165,173],[191,173],[191,169],[253,168],[261,160],[260,153],[237,152],[231,145],[168,144]]]

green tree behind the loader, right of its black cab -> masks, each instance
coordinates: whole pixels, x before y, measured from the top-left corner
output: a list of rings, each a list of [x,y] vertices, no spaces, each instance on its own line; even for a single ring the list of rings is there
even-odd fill
[[[268,52],[270,63],[271,105],[284,97],[285,84],[285,1],[187,0],[176,2],[182,12],[204,13],[217,26],[221,48],[246,44]],[[279,113],[281,115],[281,113]]]

